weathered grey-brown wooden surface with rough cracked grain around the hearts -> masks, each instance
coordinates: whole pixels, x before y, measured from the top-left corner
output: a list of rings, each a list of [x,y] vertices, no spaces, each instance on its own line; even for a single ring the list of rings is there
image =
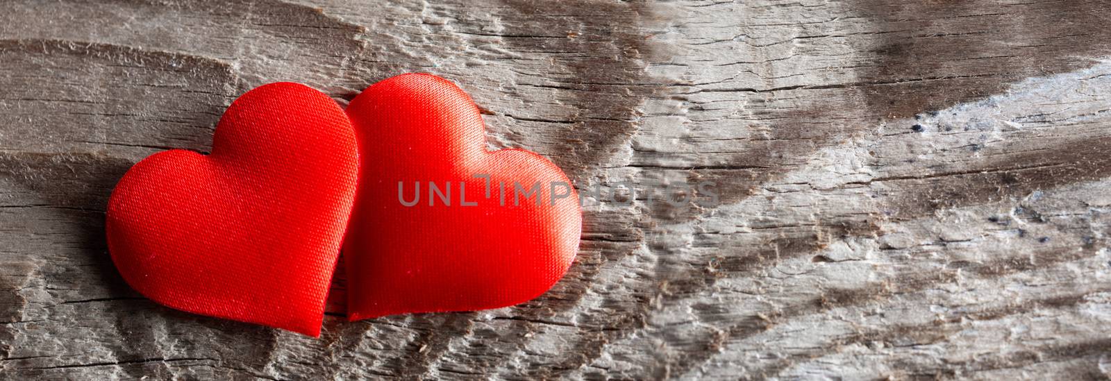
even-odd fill
[[[1111,4],[37,1],[0,4],[3,378],[1111,375]],[[457,81],[493,147],[593,204],[526,305],[294,333],[139,297],[111,187],[208,151],[246,90]]]

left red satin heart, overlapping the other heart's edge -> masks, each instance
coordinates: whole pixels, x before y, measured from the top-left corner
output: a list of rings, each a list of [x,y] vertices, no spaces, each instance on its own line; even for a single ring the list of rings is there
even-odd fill
[[[339,104],[302,84],[262,86],[224,112],[211,154],[164,151],[123,176],[109,250],[158,303],[319,335],[357,186]]]

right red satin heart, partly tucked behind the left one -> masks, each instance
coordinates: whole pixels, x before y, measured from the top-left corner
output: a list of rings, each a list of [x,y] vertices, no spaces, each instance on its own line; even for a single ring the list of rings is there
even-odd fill
[[[536,153],[487,151],[461,89],[403,74],[347,113],[362,168],[343,247],[350,320],[513,305],[567,272],[582,227],[577,192]]]

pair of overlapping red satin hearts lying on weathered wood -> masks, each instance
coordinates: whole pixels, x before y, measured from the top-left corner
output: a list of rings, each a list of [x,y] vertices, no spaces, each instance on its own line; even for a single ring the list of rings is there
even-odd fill
[[[514,183],[543,184],[533,197],[544,202],[503,204],[499,184]],[[574,191],[559,198],[549,183],[569,182],[540,156],[487,151],[478,108],[439,77],[384,80],[346,111],[272,83],[228,108],[212,154],[171,150],[132,167],[109,200],[108,243],[156,302],[319,335],[341,247],[350,320],[540,295],[581,229]]]

